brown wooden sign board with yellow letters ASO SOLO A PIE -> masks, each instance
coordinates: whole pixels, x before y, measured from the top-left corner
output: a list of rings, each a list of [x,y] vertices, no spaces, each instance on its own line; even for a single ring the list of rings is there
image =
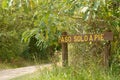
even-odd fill
[[[112,32],[104,32],[101,34],[82,34],[82,35],[62,35],[59,38],[60,43],[75,43],[75,42],[96,42],[113,40]]]

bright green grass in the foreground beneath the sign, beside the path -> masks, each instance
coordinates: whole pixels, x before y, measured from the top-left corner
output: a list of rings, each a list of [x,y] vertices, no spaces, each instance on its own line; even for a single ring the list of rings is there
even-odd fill
[[[32,74],[20,76],[12,80],[119,80],[109,70],[98,67],[54,67],[52,70],[44,69]]]

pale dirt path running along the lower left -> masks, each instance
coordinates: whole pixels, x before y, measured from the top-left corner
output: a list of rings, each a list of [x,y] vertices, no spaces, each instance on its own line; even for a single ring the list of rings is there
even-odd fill
[[[29,67],[3,70],[3,71],[0,71],[0,80],[10,80],[10,79],[18,77],[18,76],[33,73],[38,68],[42,69],[42,68],[50,67],[50,66],[51,66],[51,64],[45,64],[45,65],[41,65],[41,66],[29,66]]]

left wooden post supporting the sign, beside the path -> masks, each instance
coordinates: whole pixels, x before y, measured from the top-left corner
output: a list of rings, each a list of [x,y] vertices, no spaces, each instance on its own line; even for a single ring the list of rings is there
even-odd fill
[[[67,35],[67,32],[63,32],[62,35]],[[62,66],[68,66],[68,44],[62,43]]]

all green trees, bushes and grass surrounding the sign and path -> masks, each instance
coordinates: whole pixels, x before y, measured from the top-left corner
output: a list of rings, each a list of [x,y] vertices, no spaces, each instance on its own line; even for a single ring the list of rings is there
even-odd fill
[[[105,31],[113,33],[113,41],[69,43],[69,67],[38,71],[32,79],[23,76],[20,80],[119,80],[120,1],[0,0],[0,68],[55,63],[62,32]],[[105,46],[110,52],[107,65]]]

